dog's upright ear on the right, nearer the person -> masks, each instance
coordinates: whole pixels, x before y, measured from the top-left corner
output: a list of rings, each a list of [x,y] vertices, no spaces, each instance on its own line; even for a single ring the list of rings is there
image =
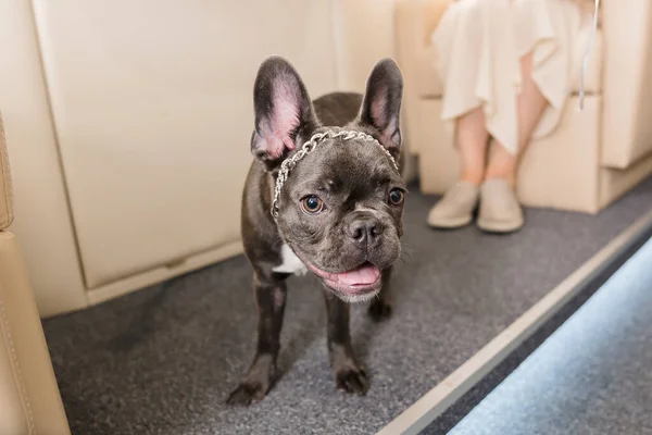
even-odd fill
[[[366,84],[366,91],[360,108],[358,123],[375,128],[380,142],[393,156],[401,151],[401,102],[403,99],[403,76],[396,62],[384,59],[376,63]]]

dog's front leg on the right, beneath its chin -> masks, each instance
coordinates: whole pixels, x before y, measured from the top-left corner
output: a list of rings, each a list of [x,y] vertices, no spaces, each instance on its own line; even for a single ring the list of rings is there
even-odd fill
[[[369,386],[365,371],[360,366],[351,345],[349,304],[324,289],[328,318],[328,355],[338,389],[364,395]]]

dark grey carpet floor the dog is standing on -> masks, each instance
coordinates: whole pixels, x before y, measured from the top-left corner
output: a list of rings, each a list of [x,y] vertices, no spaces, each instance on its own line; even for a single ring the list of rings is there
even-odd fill
[[[652,208],[648,179],[598,216],[526,210],[517,234],[425,225],[434,197],[409,195],[408,254],[394,276],[394,315],[353,313],[368,368],[366,397],[334,387],[325,311],[312,277],[292,278],[271,394],[224,402],[250,363],[251,271],[234,258],[89,310],[43,322],[74,434],[372,434]]]

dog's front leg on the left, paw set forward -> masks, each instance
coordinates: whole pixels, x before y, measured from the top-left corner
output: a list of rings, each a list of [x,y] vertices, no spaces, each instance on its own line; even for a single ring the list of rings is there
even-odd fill
[[[286,306],[283,279],[254,276],[254,294],[259,309],[258,345],[253,362],[227,402],[250,405],[265,397],[275,377],[276,357],[280,348],[280,328]]]

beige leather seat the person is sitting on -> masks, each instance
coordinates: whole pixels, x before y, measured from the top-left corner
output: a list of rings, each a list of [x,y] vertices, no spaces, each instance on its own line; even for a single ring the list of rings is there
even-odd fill
[[[453,135],[440,117],[442,86],[430,41],[452,1],[397,0],[405,137],[418,156],[425,194],[443,194],[460,171]],[[580,4],[593,11],[593,0]],[[585,108],[577,110],[578,77],[556,129],[532,140],[523,156],[517,194],[524,206],[598,213],[652,174],[652,3],[632,0],[623,8],[617,0],[604,0],[600,8]]]

